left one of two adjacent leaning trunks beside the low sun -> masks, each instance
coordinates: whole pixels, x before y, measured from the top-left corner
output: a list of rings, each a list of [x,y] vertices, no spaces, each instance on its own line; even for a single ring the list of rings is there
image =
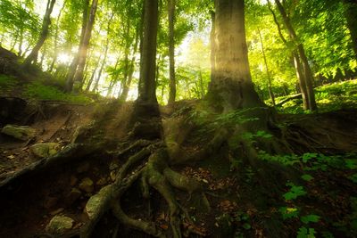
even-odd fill
[[[67,92],[71,92],[73,89],[73,82],[74,82],[74,76],[76,74],[77,71],[77,67],[79,64],[79,55],[82,51],[82,47],[83,47],[83,41],[84,41],[84,37],[86,34],[86,29],[87,29],[87,21],[88,21],[88,8],[89,8],[89,0],[85,0],[84,2],[84,7],[83,7],[83,16],[82,16],[82,29],[80,31],[80,40],[79,40],[79,49],[78,52],[76,53],[76,55],[73,57],[73,60],[71,62],[71,67],[70,70],[67,74],[67,78],[66,78],[66,91]]]

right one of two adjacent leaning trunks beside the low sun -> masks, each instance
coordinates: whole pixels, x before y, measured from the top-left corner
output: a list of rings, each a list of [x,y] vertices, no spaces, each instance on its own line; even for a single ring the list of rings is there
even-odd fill
[[[83,81],[83,73],[87,62],[87,53],[88,53],[90,38],[92,36],[92,29],[95,23],[95,12],[97,8],[97,4],[98,4],[98,0],[93,0],[89,13],[89,19],[87,21],[86,33],[84,34],[84,38],[83,38],[82,50],[79,53],[79,64],[78,64],[77,72],[74,77],[74,84],[77,84],[78,86],[80,86],[81,82]],[[75,87],[75,90],[79,91],[80,88]]]

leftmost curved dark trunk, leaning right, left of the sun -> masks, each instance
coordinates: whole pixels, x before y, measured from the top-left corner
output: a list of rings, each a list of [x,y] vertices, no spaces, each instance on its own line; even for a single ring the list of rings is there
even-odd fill
[[[25,67],[29,66],[31,62],[37,61],[38,51],[41,49],[42,45],[44,45],[46,38],[48,36],[49,26],[51,25],[51,13],[54,10],[54,3],[55,0],[48,0],[47,2],[46,13],[45,13],[44,21],[42,23],[41,34],[37,40],[37,44],[32,49],[31,53],[29,53],[29,56],[23,62],[23,65]]]

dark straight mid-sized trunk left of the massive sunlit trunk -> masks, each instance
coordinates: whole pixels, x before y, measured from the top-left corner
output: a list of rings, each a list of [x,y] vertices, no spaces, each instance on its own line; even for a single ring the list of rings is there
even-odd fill
[[[159,24],[158,0],[145,0],[143,47],[141,51],[138,102],[155,103],[156,43]]]

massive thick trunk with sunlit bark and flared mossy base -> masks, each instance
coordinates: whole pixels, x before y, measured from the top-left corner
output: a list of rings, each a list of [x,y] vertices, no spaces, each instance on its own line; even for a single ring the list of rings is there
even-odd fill
[[[254,91],[245,41],[245,1],[216,0],[215,75],[209,99],[219,111],[262,106]]]

